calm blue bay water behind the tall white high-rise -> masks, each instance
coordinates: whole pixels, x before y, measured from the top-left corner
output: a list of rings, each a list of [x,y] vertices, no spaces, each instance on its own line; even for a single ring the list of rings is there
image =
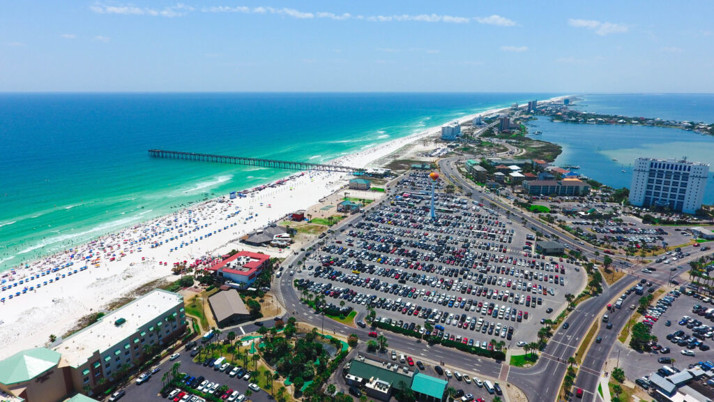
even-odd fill
[[[714,122],[714,94],[588,94],[578,98],[582,100],[573,108],[583,112]],[[714,137],[683,129],[555,123],[545,117],[529,124],[531,132],[543,132],[534,138],[563,147],[555,165],[580,165],[576,172],[615,188],[630,187],[631,166],[638,157],[686,157],[714,165]],[[706,204],[714,204],[713,172],[710,167]]]

